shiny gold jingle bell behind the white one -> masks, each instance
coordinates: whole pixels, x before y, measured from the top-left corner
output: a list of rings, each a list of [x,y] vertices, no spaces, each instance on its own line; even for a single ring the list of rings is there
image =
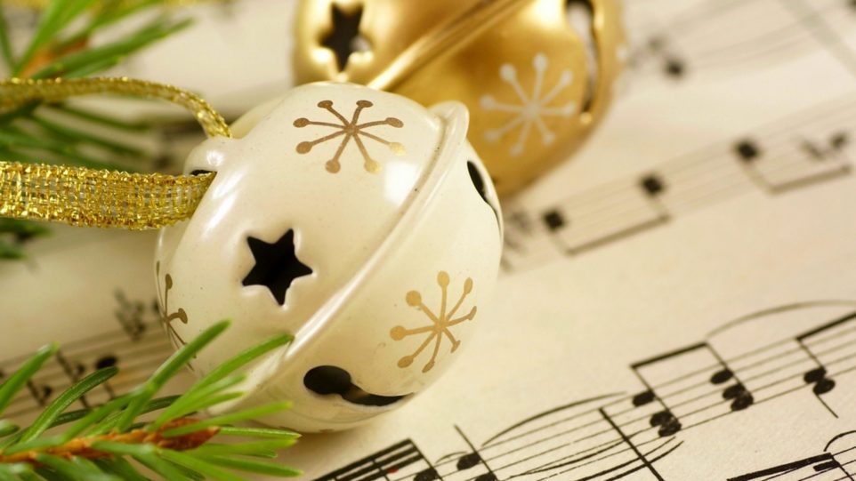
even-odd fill
[[[469,140],[511,194],[602,118],[626,50],[619,17],[617,0],[302,0],[295,76],[463,102]]]

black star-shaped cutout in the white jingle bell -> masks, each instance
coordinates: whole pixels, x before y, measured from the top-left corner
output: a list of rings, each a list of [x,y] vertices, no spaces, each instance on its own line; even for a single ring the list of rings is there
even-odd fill
[[[307,265],[297,259],[295,253],[295,231],[288,231],[273,244],[255,237],[247,237],[246,244],[255,258],[255,265],[244,277],[243,284],[267,287],[280,306],[286,303],[286,292],[297,277],[312,273]]]

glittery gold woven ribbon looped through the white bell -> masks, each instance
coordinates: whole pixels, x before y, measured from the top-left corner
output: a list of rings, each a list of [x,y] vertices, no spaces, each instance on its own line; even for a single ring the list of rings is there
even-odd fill
[[[34,101],[117,93],[167,100],[190,110],[208,136],[231,137],[214,108],[172,85],[125,77],[0,81],[0,112]],[[102,228],[161,228],[190,217],[214,173],[128,173],[0,162],[0,216]]]

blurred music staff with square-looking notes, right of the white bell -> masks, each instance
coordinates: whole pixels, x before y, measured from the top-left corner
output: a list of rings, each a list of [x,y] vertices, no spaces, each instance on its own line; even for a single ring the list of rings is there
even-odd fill
[[[551,255],[530,252],[532,245],[544,250],[539,238],[552,245],[553,255],[577,255],[758,188],[777,195],[848,175],[852,132],[839,126],[856,124],[854,107],[853,96],[830,100],[730,145],[709,146],[565,196],[539,213],[511,206],[506,213],[504,269],[526,267]]]

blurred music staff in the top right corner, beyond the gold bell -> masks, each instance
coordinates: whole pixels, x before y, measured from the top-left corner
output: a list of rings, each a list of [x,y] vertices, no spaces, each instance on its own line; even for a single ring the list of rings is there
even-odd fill
[[[635,4],[631,5],[638,6]],[[639,69],[653,62],[665,76],[681,79],[690,72],[747,62],[758,68],[807,52],[826,50],[835,61],[856,74],[854,52],[838,33],[839,30],[847,32],[848,26],[833,23],[833,20],[848,18],[848,11],[853,11],[852,4],[843,0],[824,5],[815,2],[812,8],[805,4],[795,5],[790,0],[776,4],[758,1],[708,3],[690,6],[666,20],[643,20],[642,15],[632,11],[628,14],[632,24],[629,31],[635,34],[630,65]],[[650,14],[650,9],[644,13]],[[637,15],[639,20],[636,20]],[[781,19],[782,16],[786,18]],[[739,24],[752,28],[734,30]],[[716,28],[716,25],[739,33],[723,36],[723,28]]]

